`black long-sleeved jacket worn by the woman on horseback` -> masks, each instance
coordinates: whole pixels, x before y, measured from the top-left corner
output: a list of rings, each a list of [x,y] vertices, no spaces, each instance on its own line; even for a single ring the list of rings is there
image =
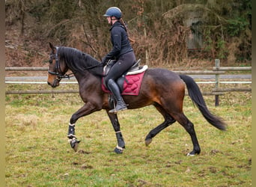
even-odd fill
[[[109,29],[111,32],[112,50],[103,58],[104,61],[109,59],[118,59],[127,52],[132,52],[132,46],[129,43],[127,30],[121,22],[115,22]]]

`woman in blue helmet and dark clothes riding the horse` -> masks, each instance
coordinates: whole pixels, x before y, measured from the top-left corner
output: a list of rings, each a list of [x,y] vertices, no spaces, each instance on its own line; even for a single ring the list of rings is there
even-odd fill
[[[116,81],[135,64],[136,59],[129,43],[127,27],[121,18],[121,10],[118,7],[109,7],[104,16],[107,18],[109,25],[111,25],[109,31],[111,32],[112,50],[103,58],[103,64],[106,65],[109,60],[116,60],[106,76],[106,85],[109,91],[113,93],[117,103],[115,108],[109,112],[116,113],[127,109],[127,104],[121,96],[121,91]]]

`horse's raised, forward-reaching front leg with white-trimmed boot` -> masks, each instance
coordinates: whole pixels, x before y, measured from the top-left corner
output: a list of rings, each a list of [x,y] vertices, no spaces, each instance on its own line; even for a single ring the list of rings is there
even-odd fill
[[[101,108],[97,107],[96,105],[93,105],[91,102],[86,102],[85,105],[82,106],[76,113],[72,115],[70,118],[70,123],[68,126],[67,131],[67,138],[69,138],[70,146],[73,148],[73,150],[77,151],[79,140],[76,138],[75,133],[75,124],[76,121],[85,115],[91,114],[94,111],[98,111]]]

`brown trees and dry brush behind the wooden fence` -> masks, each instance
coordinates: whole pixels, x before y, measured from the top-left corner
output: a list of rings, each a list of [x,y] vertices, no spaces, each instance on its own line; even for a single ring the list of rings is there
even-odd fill
[[[136,40],[132,44],[136,56],[152,66],[188,57],[186,37],[195,29],[184,24],[189,12],[203,20],[196,29],[202,34],[204,50],[196,58],[252,60],[250,0],[7,0],[7,31],[19,28],[21,40],[41,41],[43,46],[51,40],[100,60],[112,47],[103,14],[113,5],[123,11],[129,34]]]

